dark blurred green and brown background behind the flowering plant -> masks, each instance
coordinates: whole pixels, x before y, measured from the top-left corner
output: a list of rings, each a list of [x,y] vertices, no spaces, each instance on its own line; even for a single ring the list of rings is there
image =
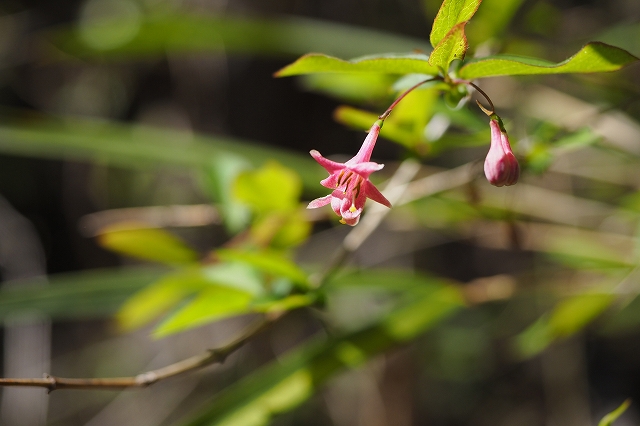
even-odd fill
[[[133,375],[237,334],[246,318],[161,340],[149,337],[150,328],[118,332],[113,313],[160,272],[101,248],[99,229],[142,219],[202,253],[219,246],[229,234],[202,173],[219,167],[215,149],[251,158],[273,153],[291,167],[310,149],[348,156],[363,133],[337,123],[336,107],[348,98],[379,113],[393,99],[393,79],[371,83],[371,96],[368,83],[349,96],[346,88],[328,93],[317,80],[273,73],[307,52],[353,58],[428,51],[439,6],[437,0],[0,2],[3,376]],[[101,26],[106,18],[121,25]],[[470,54],[560,61],[590,40],[640,54],[637,0],[485,0],[476,18],[468,27]],[[476,179],[398,209],[352,264],[493,288],[495,297],[479,300],[500,300],[472,304],[415,342],[337,376],[274,424],[578,426],[597,424],[626,398],[640,400],[638,276],[629,268],[637,261],[640,211],[639,77],[636,65],[606,75],[483,81],[526,157],[522,187],[495,192]],[[584,137],[562,139],[575,131]],[[421,173],[482,161],[486,143],[427,155]],[[384,138],[375,153],[391,171],[408,155]],[[303,198],[316,191],[307,188]],[[121,210],[131,208],[138,209]],[[335,222],[317,221],[298,252],[302,262],[330,258],[348,231]],[[118,277],[120,267],[138,269]],[[88,293],[67,295],[72,285]],[[585,319],[576,334],[541,353],[514,354],[514,336],[558,298],[603,286],[625,295],[615,312]],[[353,327],[380,303],[376,293],[347,292],[331,312]],[[144,390],[3,389],[0,423],[180,424],[228,384],[323,333],[321,316],[293,312],[224,365]],[[639,413],[633,403],[616,424],[637,424]]]

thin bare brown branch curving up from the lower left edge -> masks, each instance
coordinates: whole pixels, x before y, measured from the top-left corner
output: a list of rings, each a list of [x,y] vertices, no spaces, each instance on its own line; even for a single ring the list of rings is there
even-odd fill
[[[250,338],[268,328],[283,313],[275,313],[261,318],[249,325],[238,337],[224,346],[178,361],[175,364],[147,371],[133,377],[113,377],[103,379],[71,379],[45,375],[42,379],[0,379],[0,386],[28,386],[47,388],[49,392],[57,389],[126,389],[144,388],[160,380],[197,370],[211,364],[223,363],[233,352],[242,347]]]

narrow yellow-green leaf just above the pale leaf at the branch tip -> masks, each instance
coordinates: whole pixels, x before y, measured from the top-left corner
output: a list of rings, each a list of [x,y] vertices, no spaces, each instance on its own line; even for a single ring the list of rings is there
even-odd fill
[[[288,278],[294,283],[305,287],[309,285],[307,273],[279,251],[263,250],[254,252],[235,249],[220,249],[216,250],[216,256],[227,262],[235,261],[247,263],[263,272],[278,277]]]

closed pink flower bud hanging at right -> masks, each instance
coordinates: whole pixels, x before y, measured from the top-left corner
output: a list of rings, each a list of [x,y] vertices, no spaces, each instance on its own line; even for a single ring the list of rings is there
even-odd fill
[[[487,158],[484,160],[484,174],[491,185],[513,185],[520,177],[520,166],[516,160],[507,132],[503,130],[502,123],[491,119],[491,147]]]

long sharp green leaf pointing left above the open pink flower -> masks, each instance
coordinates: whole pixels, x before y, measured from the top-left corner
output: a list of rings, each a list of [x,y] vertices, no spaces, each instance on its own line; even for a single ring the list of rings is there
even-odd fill
[[[282,68],[275,76],[288,77],[321,72],[435,75],[438,68],[430,65],[428,56],[423,54],[367,56],[344,61],[332,56],[310,53]]]

